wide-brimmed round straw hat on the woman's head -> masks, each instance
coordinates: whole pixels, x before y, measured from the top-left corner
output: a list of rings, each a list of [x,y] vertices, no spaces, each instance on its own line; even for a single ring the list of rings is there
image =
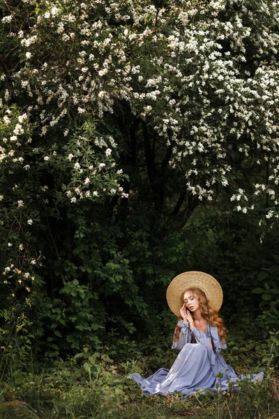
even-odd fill
[[[199,288],[204,291],[211,307],[216,311],[220,310],[223,303],[223,291],[219,282],[204,272],[183,272],[172,279],[167,287],[167,304],[177,317],[181,316],[181,294],[188,288]]]

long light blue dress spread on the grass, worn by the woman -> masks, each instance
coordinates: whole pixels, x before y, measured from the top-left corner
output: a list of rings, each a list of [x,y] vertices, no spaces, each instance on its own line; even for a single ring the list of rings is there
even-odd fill
[[[222,349],[227,348],[225,342],[218,335],[218,328],[210,326],[216,353],[213,352],[209,326],[206,332],[193,328],[190,330],[189,323],[179,321],[181,328],[178,341],[173,341],[172,348],[179,351],[171,369],[160,368],[148,378],[142,378],[138,373],[130,375],[142,387],[144,395],[167,395],[181,392],[183,397],[193,392],[205,392],[209,389],[228,390],[228,383],[234,382],[237,389],[237,381],[244,376],[238,377],[234,369],[226,364],[220,354]],[[197,343],[191,343],[193,337]],[[216,377],[222,373],[222,378]],[[263,373],[249,376],[252,381],[262,380]]]

